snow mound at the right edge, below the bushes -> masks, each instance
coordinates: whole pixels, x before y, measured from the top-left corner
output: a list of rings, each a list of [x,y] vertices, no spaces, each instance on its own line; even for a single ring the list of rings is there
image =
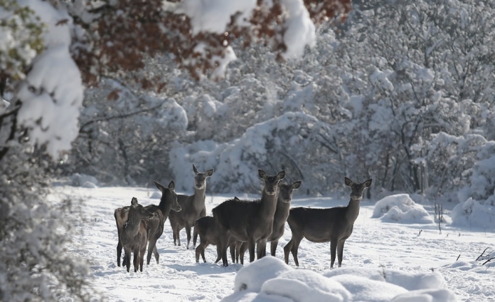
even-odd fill
[[[484,205],[473,198],[457,204],[452,212],[452,226],[495,229],[495,207]]]

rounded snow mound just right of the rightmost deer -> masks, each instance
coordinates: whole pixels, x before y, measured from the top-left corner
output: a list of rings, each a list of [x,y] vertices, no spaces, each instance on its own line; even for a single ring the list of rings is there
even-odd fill
[[[372,218],[380,217],[381,221],[400,224],[435,223],[424,207],[414,203],[409,194],[390,195],[378,200]]]

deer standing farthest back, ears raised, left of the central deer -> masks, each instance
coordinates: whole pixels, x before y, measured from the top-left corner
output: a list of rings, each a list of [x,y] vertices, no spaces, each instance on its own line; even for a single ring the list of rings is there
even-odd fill
[[[170,212],[169,220],[172,227],[172,233],[174,237],[174,245],[180,246],[179,232],[182,228],[186,228],[187,234],[187,249],[189,249],[189,242],[191,241],[191,227],[194,226],[194,222],[206,216],[205,206],[205,191],[206,191],[206,179],[213,175],[213,169],[204,173],[198,172],[196,166],[193,164],[194,172],[194,194],[193,195],[177,195],[177,201],[179,202],[182,211]],[[194,230],[196,233],[196,229]],[[193,246],[193,249],[196,246]]]

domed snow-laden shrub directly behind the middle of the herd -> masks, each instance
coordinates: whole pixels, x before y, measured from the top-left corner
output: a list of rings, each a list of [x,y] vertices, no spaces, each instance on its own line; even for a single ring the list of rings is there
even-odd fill
[[[208,186],[214,192],[259,192],[257,170],[275,174],[287,170],[287,181],[305,179],[305,183],[323,191],[327,184],[328,166],[311,165],[311,155],[323,151],[314,148],[314,141],[327,133],[327,124],[301,112],[258,123],[238,139],[219,144],[213,141],[178,145],[170,151],[170,169],[178,190],[192,186],[192,164],[198,170],[215,169]],[[311,188],[310,188],[311,189]]]

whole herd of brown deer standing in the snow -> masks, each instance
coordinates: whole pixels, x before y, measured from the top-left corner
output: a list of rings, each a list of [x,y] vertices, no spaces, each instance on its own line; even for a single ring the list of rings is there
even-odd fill
[[[151,261],[151,253],[158,263],[156,240],[163,233],[165,220],[170,220],[174,245],[180,245],[179,231],[186,228],[187,249],[191,241],[191,227],[194,226],[193,249],[196,248],[196,262],[199,256],[205,259],[205,248],[208,245],[217,246],[217,263],[222,259],[224,266],[229,266],[226,251],[230,248],[232,262],[243,263],[246,249],[249,249],[250,262],[266,255],[266,242],[271,242],[271,255],[275,256],[278,240],[285,229],[285,221],[292,231],[291,240],[284,247],[285,263],[289,263],[289,253],[292,253],[296,266],[299,266],[297,250],[303,238],[312,242],[330,242],[331,262],[333,268],[335,256],[339,257],[339,267],[342,263],[344,242],[353,232],[355,219],[358,218],[359,204],[365,188],[372,184],[372,179],[355,183],[344,177],[346,186],[351,188],[351,200],[346,207],[331,207],[325,209],[294,207],[290,208],[292,191],[301,186],[301,181],[294,184],[280,184],[285,178],[285,170],[275,176],[267,175],[258,170],[258,176],[264,181],[262,198],[259,200],[239,200],[237,197],[226,200],[215,207],[213,217],[206,215],[205,190],[206,179],[211,177],[213,169],[207,172],[194,170],[194,194],[177,195],[174,181],[168,188],[154,181],[161,191],[159,205],[143,207],[137,199],[131,200],[131,205],[119,207],[114,212],[118,232],[117,265],[121,266],[122,248],[125,256],[123,265],[130,269],[130,254],[134,254],[134,271],[138,267],[142,271],[144,253],[148,244],[147,264]],[[172,210],[172,211],[170,211]],[[196,240],[200,238],[198,247]]]

